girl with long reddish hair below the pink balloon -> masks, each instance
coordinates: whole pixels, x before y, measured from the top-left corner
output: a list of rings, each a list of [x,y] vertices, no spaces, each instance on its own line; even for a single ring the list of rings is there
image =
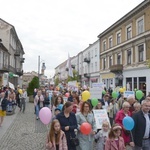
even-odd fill
[[[57,119],[53,120],[46,141],[47,150],[68,150],[66,135],[60,128]]]

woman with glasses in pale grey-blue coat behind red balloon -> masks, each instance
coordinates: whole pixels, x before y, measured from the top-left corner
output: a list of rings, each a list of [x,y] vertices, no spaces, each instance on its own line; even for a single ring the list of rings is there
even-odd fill
[[[93,149],[93,141],[94,135],[96,133],[96,124],[94,115],[91,112],[90,103],[85,101],[81,106],[81,110],[76,114],[77,123],[78,123],[78,138],[80,141],[80,145],[78,146],[79,150],[92,150]],[[80,125],[84,122],[88,122],[92,126],[92,131],[89,135],[84,135],[80,132]]]

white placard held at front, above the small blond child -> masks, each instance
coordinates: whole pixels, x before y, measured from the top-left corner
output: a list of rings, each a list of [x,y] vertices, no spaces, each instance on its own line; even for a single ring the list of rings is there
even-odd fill
[[[93,113],[94,113],[94,118],[96,121],[97,129],[102,128],[103,121],[109,122],[109,118],[108,118],[106,109],[94,109]],[[109,126],[111,127],[110,122],[109,122]]]

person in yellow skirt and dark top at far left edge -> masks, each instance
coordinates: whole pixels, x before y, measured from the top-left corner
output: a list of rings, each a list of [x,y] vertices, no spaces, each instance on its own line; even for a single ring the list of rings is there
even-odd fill
[[[5,93],[2,92],[0,96],[0,127],[4,121],[4,116],[6,116],[6,107],[7,107],[7,99],[5,98]]]

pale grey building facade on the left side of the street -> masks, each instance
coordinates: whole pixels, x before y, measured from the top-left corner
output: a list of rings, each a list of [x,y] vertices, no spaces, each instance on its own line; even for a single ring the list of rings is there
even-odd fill
[[[7,49],[9,55],[1,55],[1,62],[8,65],[7,72],[3,71],[2,75],[2,85],[7,85],[8,82],[14,84],[14,86],[21,85],[23,75],[23,55],[24,50],[22,44],[17,36],[15,28],[13,25],[7,23],[6,21],[0,19],[0,39],[3,45]],[[1,51],[1,53],[3,53]],[[4,54],[4,53],[3,53]],[[7,82],[5,83],[5,81]]]

